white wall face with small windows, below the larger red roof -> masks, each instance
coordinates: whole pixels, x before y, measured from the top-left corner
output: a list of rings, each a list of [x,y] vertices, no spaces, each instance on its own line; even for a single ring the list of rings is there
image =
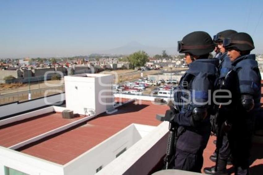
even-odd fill
[[[64,165],[64,174],[95,174],[151,132],[155,126],[131,124]]]

